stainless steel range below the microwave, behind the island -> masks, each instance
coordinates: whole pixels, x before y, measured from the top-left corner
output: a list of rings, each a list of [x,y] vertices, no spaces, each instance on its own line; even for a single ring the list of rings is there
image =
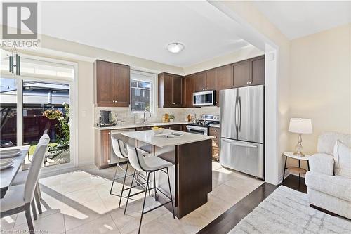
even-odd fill
[[[208,127],[218,126],[220,124],[219,119],[219,115],[201,115],[200,119],[194,120],[192,124],[187,124],[187,132],[208,135]]]

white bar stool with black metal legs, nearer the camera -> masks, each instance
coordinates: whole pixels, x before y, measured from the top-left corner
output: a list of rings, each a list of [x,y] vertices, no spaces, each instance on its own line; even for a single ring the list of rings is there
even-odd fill
[[[128,144],[126,144],[126,145],[127,145],[129,162],[131,163],[131,166],[134,168],[134,174],[133,174],[133,179],[132,179],[132,182],[131,182],[131,187],[129,188],[126,206],[124,207],[124,214],[126,214],[126,209],[127,209],[127,206],[128,206],[129,198],[134,196],[134,195],[138,195],[140,193],[145,193],[144,194],[144,200],[143,200],[143,209],[141,210],[140,223],[139,223],[139,229],[138,229],[138,233],[140,233],[141,222],[143,221],[143,215],[147,214],[148,212],[152,212],[154,209],[162,207],[165,204],[168,204],[168,203],[172,204],[173,219],[176,218],[176,216],[174,214],[173,197],[172,197],[172,191],[171,191],[171,182],[169,181],[169,174],[168,174],[168,167],[173,166],[173,164],[171,164],[171,162],[167,162],[166,160],[162,160],[160,157],[156,157],[156,156],[143,157],[142,150],[140,150],[140,148],[135,148],[135,147],[132,147],[131,145],[128,145]],[[164,171],[164,169],[166,169],[166,171]],[[134,193],[133,195],[131,195],[131,188],[133,188],[133,182],[134,181],[135,181],[135,183],[137,183],[137,185],[141,186],[140,181],[138,181],[138,179],[135,178],[136,171],[145,172],[147,174],[146,188],[145,188],[145,191],[141,191],[141,192]],[[165,174],[167,174],[168,188],[169,188],[169,194],[170,194],[169,197],[162,190],[159,190],[159,188],[157,188],[157,186],[156,186],[156,177],[155,176],[154,176],[154,183],[153,183],[154,187],[150,188],[150,186],[149,186],[150,174],[155,174],[156,171],[163,171]],[[165,202],[163,204],[160,204],[157,207],[154,207],[154,208],[149,209],[146,212],[144,212],[146,194],[147,194],[147,191],[150,191],[150,190],[157,190],[157,191],[159,191],[161,194],[163,194],[165,197],[167,197],[169,199],[169,201]],[[156,198],[156,196],[157,195],[155,194],[155,198]]]

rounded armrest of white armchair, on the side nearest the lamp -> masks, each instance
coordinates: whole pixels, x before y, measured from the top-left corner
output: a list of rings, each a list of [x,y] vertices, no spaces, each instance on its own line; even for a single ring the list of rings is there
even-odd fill
[[[317,153],[310,157],[310,171],[333,176],[333,156],[324,153]]]

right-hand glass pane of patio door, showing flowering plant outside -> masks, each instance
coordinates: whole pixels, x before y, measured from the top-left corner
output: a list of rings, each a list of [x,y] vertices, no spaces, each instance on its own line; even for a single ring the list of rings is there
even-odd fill
[[[43,134],[50,137],[44,167],[70,162],[69,84],[23,80],[22,144],[31,145],[25,164]]]

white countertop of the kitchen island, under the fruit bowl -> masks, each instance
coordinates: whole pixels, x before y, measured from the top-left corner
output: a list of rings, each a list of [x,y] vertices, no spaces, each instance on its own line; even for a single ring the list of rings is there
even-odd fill
[[[168,129],[165,129],[162,134],[166,134],[171,131],[183,133],[183,136],[175,137],[175,138],[162,138],[162,137],[154,136],[155,134],[152,130],[124,132],[122,133],[122,135],[128,136],[129,138],[133,138],[138,141],[143,141],[144,143],[147,143],[150,145],[155,145],[160,148],[163,148],[166,146],[184,145],[187,143],[205,141],[205,140],[214,138],[214,136],[190,134],[183,131],[174,131],[174,130],[168,130]]]

